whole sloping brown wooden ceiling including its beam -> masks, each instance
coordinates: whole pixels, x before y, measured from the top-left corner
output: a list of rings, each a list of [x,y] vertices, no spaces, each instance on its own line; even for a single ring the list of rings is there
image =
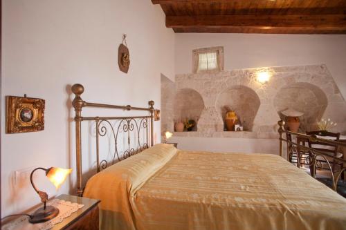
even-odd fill
[[[346,34],[346,0],[152,0],[174,32]]]

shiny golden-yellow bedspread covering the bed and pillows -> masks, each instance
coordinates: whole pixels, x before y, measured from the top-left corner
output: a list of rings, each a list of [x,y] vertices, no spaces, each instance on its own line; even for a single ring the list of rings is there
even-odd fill
[[[282,157],[157,144],[93,176],[102,229],[346,229],[346,199]]]

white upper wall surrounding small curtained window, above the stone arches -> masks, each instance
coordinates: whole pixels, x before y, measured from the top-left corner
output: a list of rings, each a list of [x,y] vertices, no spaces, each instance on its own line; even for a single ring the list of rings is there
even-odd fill
[[[346,35],[176,34],[175,70],[192,73],[192,49],[224,46],[224,70],[326,64],[346,97]]]

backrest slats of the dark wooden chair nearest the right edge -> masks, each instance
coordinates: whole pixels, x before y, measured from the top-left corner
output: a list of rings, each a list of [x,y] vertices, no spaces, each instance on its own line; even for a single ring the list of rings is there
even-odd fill
[[[328,140],[336,140],[336,141],[340,140],[340,133],[331,133],[328,131],[310,131],[310,132],[307,132],[307,135],[318,135],[322,138],[329,137],[329,138],[326,138]],[[331,137],[334,137],[334,138],[331,138]],[[319,151],[334,153],[335,156],[338,153],[337,144],[327,144],[327,143],[321,143],[318,141],[313,142],[309,140],[309,148],[315,148],[316,150],[319,150]]]

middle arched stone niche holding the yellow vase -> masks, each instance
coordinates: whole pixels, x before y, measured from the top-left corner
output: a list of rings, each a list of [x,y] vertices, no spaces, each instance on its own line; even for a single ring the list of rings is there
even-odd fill
[[[228,108],[235,111],[238,119],[244,123],[244,131],[253,130],[253,120],[260,108],[260,97],[247,86],[231,86],[217,97],[216,108],[222,120],[225,120]],[[245,122],[244,122],[245,121]]]

